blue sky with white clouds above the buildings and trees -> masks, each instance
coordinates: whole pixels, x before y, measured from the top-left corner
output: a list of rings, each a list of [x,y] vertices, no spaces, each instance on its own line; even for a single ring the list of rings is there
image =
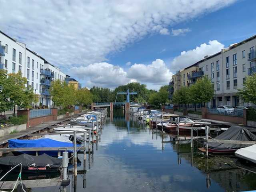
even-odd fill
[[[83,86],[158,90],[256,34],[254,0],[0,0],[0,30]]]

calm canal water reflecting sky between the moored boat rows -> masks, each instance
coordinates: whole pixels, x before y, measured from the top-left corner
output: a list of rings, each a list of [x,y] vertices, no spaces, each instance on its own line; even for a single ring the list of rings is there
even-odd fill
[[[116,110],[102,130],[94,154],[86,156],[86,174],[77,176],[67,191],[245,191],[256,189],[256,169],[234,156],[198,154],[199,142],[167,142],[167,134],[125,118]],[[163,142],[164,141],[164,142]],[[83,155],[78,155],[83,169]],[[31,191],[58,191],[34,188]]]

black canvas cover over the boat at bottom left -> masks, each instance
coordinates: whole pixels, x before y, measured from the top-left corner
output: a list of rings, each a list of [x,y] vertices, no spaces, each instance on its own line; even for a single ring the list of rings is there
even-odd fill
[[[33,156],[28,154],[21,154],[18,156],[6,156],[0,158],[0,165],[5,166],[15,166],[22,163],[23,168],[27,167],[48,167],[52,169],[57,169],[61,165],[61,159],[51,157],[46,154],[39,156]]]

